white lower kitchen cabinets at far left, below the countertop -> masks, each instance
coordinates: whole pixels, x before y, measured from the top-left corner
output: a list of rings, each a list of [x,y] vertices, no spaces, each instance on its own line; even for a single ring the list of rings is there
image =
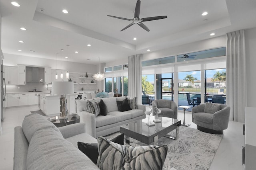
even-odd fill
[[[7,107],[26,106],[28,105],[28,93],[8,94]]]

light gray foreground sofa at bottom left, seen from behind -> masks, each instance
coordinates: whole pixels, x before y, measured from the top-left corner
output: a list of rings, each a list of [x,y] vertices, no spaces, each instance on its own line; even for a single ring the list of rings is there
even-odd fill
[[[14,170],[98,170],[77,142],[97,143],[84,123],[57,128],[46,117],[32,113],[14,128]]]

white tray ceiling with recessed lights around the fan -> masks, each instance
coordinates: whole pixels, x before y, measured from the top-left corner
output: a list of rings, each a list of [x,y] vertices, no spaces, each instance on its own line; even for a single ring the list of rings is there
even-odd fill
[[[59,53],[59,60],[68,55],[68,61],[78,63],[97,64],[98,57],[101,62],[121,60],[148,53],[147,49],[152,52],[209,39],[212,32],[216,37],[256,27],[256,0],[141,0],[140,18],[168,16],[144,22],[149,32],[136,24],[120,32],[131,22],[107,16],[134,18],[137,0],[15,1],[20,7],[0,0],[3,53],[46,59],[56,59]],[[202,16],[205,11],[208,15]]]

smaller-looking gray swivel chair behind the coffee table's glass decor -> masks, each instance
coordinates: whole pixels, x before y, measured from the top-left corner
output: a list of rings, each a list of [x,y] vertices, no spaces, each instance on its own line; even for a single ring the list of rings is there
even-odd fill
[[[154,107],[157,107],[161,110],[161,113],[158,116],[170,117],[177,119],[178,115],[178,106],[175,102],[171,100],[158,99],[152,102],[152,115],[156,115]]]

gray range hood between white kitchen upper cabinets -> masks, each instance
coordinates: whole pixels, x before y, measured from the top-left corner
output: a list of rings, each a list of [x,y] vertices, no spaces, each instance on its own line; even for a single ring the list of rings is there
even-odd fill
[[[39,67],[26,67],[26,79],[27,82],[44,82],[43,68]],[[28,76],[28,77],[27,77]]]

